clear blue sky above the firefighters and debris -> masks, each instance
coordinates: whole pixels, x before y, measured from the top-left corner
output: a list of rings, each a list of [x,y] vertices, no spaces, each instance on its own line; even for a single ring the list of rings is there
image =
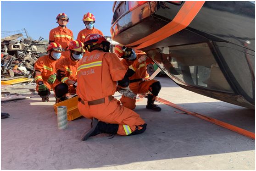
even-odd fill
[[[112,6],[114,1],[1,1],[1,31],[15,31],[26,28],[30,37],[49,39],[49,32],[56,28],[56,16],[66,13],[67,28],[74,33],[85,28],[83,15],[91,12],[96,19],[95,28],[105,36],[111,36]],[[22,33],[26,37],[25,33]],[[5,35],[1,34],[1,37]]]

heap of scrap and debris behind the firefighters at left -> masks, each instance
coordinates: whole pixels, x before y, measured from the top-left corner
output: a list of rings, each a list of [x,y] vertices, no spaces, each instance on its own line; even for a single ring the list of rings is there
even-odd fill
[[[22,33],[1,39],[1,80],[8,77],[28,77],[33,73],[34,63],[47,54],[47,42],[25,39]]]

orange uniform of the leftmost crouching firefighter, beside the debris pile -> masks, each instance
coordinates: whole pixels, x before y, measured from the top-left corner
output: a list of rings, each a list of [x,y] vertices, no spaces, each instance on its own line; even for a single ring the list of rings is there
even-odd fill
[[[59,60],[61,60],[62,58],[64,58],[64,56],[61,55],[61,58]],[[35,63],[34,65],[34,70],[35,70],[35,82],[37,83],[36,86],[36,91],[38,91],[38,82],[42,81],[44,82],[45,86],[50,90],[51,88],[53,88],[53,84],[49,84],[47,83],[48,78],[56,73],[55,70],[55,65],[57,63],[58,60],[53,60],[50,58],[49,55],[45,55],[45,56],[41,56]],[[38,72],[41,72],[41,74],[39,74]]]

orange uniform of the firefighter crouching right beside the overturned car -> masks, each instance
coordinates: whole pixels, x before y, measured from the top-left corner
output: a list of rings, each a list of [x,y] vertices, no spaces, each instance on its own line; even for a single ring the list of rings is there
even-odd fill
[[[135,71],[134,75],[129,77],[130,85],[129,88],[134,92],[134,94],[146,94],[148,93],[150,86],[157,82],[157,80],[147,80],[149,78],[149,74],[147,73],[147,65],[153,63],[153,61],[148,58],[145,62],[139,63],[138,59],[142,55],[146,55],[145,53],[136,53],[137,59],[134,61],[127,60],[123,58],[121,60],[122,65],[128,69],[132,69]],[[134,82],[133,82],[134,81]],[[133,83],[131,83],[133,82]],[[136,105],[136,99],[131,99],[122,95],[120,99],[122,105],[133,110]]]

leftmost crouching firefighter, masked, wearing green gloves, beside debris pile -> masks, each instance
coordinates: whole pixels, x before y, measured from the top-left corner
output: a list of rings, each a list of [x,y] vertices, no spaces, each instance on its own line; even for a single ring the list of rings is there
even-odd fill
[[[34,80],[36,82],[36,91],[42,98],[42,101],[49,101],[50,89],[56,80],[55,65],[56,62],[64,58],[61,52],[64,51],[60,44],[50,43],[47,47],[48,55],[40,57],[34,65]]]

